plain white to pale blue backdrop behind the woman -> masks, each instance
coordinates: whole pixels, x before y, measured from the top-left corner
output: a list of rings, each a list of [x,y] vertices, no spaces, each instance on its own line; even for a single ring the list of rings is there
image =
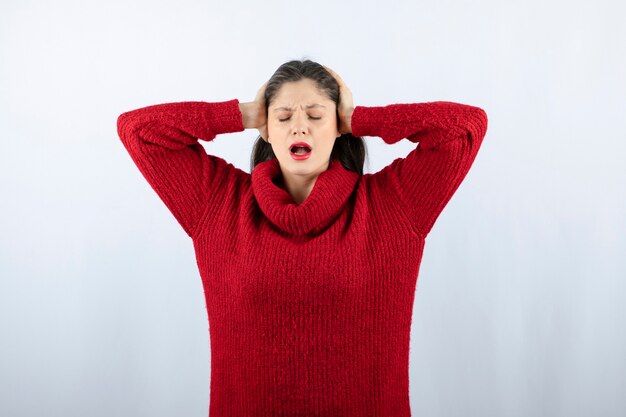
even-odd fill
[[[251,101],[310,58],[357,105],[483,108],[427,238],[415,416],[626,415],[626,50],[618,1],[0,4],[0,415],[206,416],[191,240],[117,137],[127,110]],[[249,171],[257,132],[204,143]],[[413,148],[366,138],[367,172]]]

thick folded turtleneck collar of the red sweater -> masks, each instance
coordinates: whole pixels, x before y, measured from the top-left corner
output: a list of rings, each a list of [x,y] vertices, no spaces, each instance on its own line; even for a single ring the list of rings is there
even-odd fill
[[[339,214],[360,177],[331,160],[320,173],[309,196],[296,204],[291,195],[276,185],[282,177],[277,159],[257,164],[252,170],[252,189],[259,207],[275,226],[293,234],[303,235],[328,226]]]

